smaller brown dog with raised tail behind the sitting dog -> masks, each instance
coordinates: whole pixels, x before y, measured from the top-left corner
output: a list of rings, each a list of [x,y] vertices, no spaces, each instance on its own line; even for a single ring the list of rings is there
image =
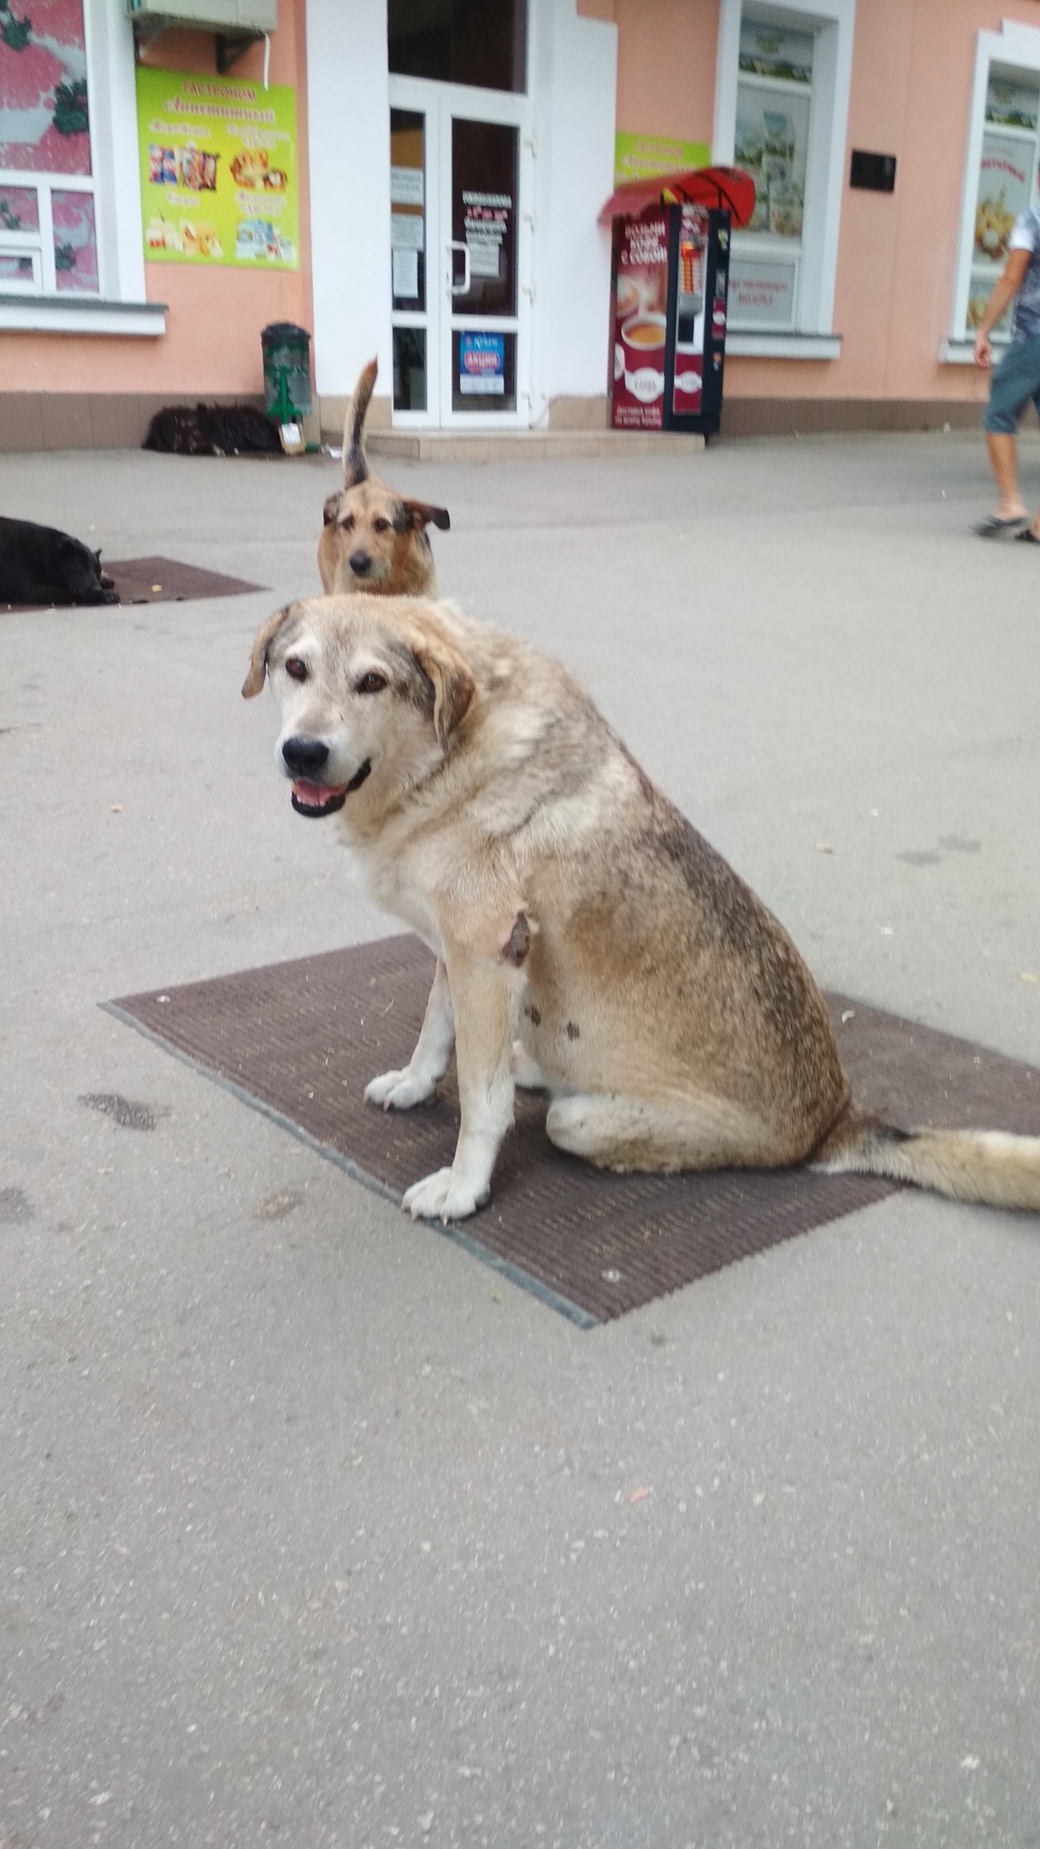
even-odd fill
[[[379,361],[369,359],[344,422],[344,486],[325,501],[318,573],[325,595],[368,590],[379,597],[436,597],[438,581],[427,525],[451,527],[445,507],[408,501],[368,471],[364,420]]]

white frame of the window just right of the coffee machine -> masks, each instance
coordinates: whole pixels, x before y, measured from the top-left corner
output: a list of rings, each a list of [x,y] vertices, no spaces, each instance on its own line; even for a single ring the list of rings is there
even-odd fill
[[[720,166],[733,165],[737,83],[741,81],[741,17],[744,13],[763,24],[815,35],[813,89],[794,324],[791,329],[732,329],[726,333],[726,351],[774,359],[837,359],[840,335],[833,333],[831,324],[844,196],[855,0],[815,0],[811,6],[798,4],[798,0],[763,0],[763,4],[757,0],[720,0],[715,135],[711,141],[711,159]],[[778,239],[768,240],[770,253],[778,246]],[[761,251],[767,253],[765,239]],[[750,244],[746,253],[748,257],[757,255]]]

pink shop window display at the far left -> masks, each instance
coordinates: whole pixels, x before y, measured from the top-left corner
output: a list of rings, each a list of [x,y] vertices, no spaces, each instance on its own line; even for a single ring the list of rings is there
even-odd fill
[[[0,290],[98,294],[83,0],[0,0]]]

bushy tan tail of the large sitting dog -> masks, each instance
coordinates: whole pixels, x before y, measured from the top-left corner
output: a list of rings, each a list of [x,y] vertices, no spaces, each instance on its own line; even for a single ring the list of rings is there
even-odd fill
[[[813,1156],[828,1174],[883,1174],[949,1200],[1040,1213],[1040,1137],[1003,1130],[896,1130],[855,1106]]]

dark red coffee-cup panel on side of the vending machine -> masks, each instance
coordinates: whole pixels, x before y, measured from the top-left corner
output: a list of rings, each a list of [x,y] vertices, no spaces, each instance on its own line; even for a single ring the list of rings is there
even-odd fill
[[[613,298],[615,431],[659,431],[665,412],[665,307],[669,227],[665,213],[626,218]]]

